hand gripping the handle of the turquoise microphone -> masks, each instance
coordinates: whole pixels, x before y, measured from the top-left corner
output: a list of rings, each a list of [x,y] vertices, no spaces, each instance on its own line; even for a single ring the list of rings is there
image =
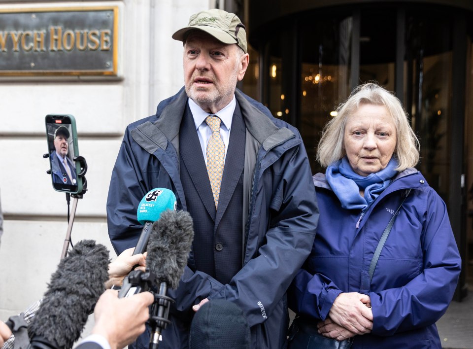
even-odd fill
[[[124,250],[120,255],[108,265],[108,281],[105,282],[105,288],[111,288],[113,285],[121,286],[123,279],[133,270],[145,271],[146,252],[138,253],[132,256],[135,247]]]

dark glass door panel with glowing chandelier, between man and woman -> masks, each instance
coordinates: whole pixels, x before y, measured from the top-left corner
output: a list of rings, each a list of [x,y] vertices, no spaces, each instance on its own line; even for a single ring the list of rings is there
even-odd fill
[[[313,173],[325,172],[315,160],[324,125],[350,94],[352,17],[303,22],[300,124]]]

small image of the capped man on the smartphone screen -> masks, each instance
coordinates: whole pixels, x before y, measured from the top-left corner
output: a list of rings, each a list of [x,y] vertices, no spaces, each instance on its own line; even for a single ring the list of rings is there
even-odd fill
[[[51,174],[54,183],[62,183],[66,185],[76,185],[77,177],[75,173],[75,165],[68,157],[69,152],[69,130],[66,126],[59,126],[54,132],[54,148],[50,154],[51,157]]]

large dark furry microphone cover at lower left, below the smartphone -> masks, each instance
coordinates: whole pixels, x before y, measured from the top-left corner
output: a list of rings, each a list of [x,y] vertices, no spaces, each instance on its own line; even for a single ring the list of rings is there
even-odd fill
[[[28,327],[31,348],[70,349],[105,290],[108,250],[83,240],[63,258],[51,276],[43,302]]]

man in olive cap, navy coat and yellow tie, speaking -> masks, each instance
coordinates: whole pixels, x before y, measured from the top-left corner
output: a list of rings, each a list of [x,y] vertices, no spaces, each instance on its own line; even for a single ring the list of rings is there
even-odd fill
[[[249,56],[235,14],[199,12],[172,37],[184,45],[184,88],[126,130],[108,192],[110,240],[117,253],[135,246],[138,203],[169,188],[195,235],[179,287],[168,292],[175,304],[160,349],[187,348],[193,314],[219,299],[246,316],[251,348],[285,348],[285,292],[318,219],[304,144],[236,89]],[[140,337],[136,347],[148,343]]]

